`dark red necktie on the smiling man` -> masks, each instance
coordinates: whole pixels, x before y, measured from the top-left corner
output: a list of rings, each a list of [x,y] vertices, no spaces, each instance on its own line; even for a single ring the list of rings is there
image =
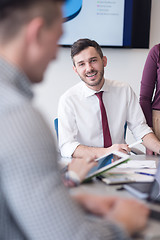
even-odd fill
[[[104,147],[110,147],[112,145],[112,140],[111,140],[111,135],[110,135],[109,126],[108,126],[107,114],[106,114],[106,110],[102,100],[102,94],[103,94],[103,91],[95,93],[95,95],[99,99],[99,105],[101,109]]]

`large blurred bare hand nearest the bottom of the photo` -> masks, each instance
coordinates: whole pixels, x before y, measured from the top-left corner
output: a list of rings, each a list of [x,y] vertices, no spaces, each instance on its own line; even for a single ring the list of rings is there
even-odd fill
[[[147,223],[149,209],[135,199],[98,196],[87,193],[73,195],[73,198],[85,210],[119,223],[130,235],[142,230]]]

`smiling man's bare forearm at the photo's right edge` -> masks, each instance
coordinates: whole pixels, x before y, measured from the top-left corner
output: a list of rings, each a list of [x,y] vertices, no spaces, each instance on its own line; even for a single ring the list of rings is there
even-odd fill
[[[160,154],[160,141],[154,133],[148,133],[143,137],[143,145],[153,152]]]

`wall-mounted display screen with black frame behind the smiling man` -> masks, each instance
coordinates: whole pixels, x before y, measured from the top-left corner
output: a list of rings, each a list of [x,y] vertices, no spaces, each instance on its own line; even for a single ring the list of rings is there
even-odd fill
[[[67,0],[63,13],[62,46],[90,38],[102,47],[149,47],[151,0]]]

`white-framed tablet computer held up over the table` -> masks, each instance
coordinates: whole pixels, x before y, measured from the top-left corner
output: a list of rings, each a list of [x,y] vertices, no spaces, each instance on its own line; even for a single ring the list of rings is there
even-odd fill
[[[96,177],[116,166],[127,162],[129,160],[129,155],[122,152],[114,151],[106,154],[100,158],[97,158],[97,166],[93,167],[87,174],[84,181],[88,181],[93,177]]]

